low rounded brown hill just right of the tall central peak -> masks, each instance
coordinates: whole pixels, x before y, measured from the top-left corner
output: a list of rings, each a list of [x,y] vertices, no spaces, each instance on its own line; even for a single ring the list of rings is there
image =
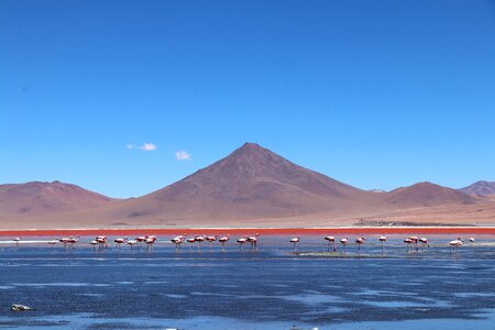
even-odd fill
[[[420,183],[395,189],[384,194],[383,199],[391,205],[397,206],[397,208],[432,207],[449,204],[470,205],[476,202],[476,198],[473,196],[431,183]]]

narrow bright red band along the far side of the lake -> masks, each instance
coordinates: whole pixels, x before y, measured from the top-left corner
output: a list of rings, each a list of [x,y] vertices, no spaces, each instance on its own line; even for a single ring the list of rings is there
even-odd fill
[[[327,227],[327,228],[79,228],[0,230],[0,237],[91,237],[91,235],[178,235],[178,234],[487,234],[495,235],[495,227]]]

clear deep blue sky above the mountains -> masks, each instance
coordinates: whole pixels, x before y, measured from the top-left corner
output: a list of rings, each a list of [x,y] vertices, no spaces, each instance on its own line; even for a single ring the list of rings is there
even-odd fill
[[[495,180],[495,2],[2,0],[0,120],[0,183],[112,197],[244,142],[363,189]]]

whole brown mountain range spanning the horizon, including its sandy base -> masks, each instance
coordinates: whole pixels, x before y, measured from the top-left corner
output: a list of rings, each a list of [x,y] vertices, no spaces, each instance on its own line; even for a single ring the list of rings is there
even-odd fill
[[[389,193],[366,191],[245,143],[210,166],[138,198],[112,199],[58,182],[0,185],[0,224],[314,227],[363,219],[495,222],[495,201],[486,194],[494,186],[476,184],[460,190],[420,183]]]

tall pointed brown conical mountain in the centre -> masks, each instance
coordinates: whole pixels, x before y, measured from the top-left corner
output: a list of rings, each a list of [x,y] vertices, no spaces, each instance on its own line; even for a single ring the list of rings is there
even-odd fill
[[[219,162],[150,195],[120,202],[117,218],[282,218],[373,208],[377,194],[342,184],[246,143]]]

